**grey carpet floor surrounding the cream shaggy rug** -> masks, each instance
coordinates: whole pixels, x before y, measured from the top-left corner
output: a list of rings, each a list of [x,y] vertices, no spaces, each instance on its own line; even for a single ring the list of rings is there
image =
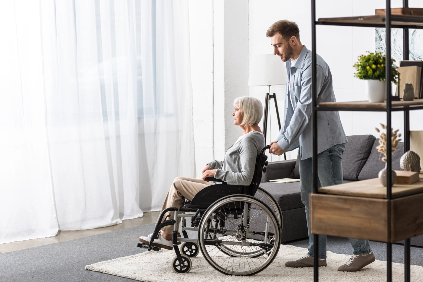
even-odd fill
[[[0,253],[0,281],[7,282],[77,282],[134,281],[127,278],[85,270],[85,266],[144,252],[137,248],[137,238],[151,233],[154,225],[143,225],[86,238]],[[190,234],[190,236],[193,233]],[[308,240],[288,242],[307,247]],[[375,256],[386,259],[386,244],[371,242]],[[338,254],[352,252],[348,239],[328,237],[328,250]],[[423,266],[423,248],[412,247],[412,264]],[[299,254],[302,256],[304,254]],[[403,263],[404,246],[393,245],[393,262]]]

